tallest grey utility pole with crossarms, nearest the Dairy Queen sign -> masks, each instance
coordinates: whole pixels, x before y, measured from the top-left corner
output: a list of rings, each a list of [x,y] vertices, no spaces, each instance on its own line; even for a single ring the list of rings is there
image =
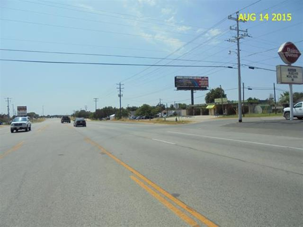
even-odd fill
[[[234,18],[231,15],[228,16],[228,19],[234,20],[237,22],[237,28],[229,27],[230,30],[237,31],[237,36],[234,37],[234,39],[229,39],[227,41],[229,42],[237,42],[237,57],[238,57],[238,116],[239,116],[239,122],[242,122],[242,104],[241,104],[241,64],[240,64],[240,39],[244,37],[251,37],[247,34],[246,30],[240,30],[239,29],[239,21],[245,22],[244,20],[239,20],[239,12],[236,12],[237,17]],[[244,34],[240,35],[240,31],[244,32]],[[231,53],[231,51],[229,51]]]

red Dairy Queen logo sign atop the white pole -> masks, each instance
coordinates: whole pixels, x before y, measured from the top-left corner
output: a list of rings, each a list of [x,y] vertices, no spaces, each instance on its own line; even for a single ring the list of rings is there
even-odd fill
[[[278,50],[278,54],[286,64],[295,63],[301,55],[298,48],[292,42],[283,43]]]

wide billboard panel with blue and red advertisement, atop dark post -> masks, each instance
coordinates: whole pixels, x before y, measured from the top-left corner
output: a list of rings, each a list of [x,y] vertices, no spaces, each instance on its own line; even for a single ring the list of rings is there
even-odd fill
[[[208,77],[176,76],[177,90],[207,90]]]

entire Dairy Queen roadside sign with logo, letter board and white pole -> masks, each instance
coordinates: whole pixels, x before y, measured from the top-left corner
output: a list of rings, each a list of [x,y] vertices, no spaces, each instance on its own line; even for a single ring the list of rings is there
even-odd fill
[[[303,84],[303,72],[302,67],[292,66],[298,58],[301,56],[300,51],[292,42],[286,42],[281,45],[278,50],[278,54],[282,61],[287,65],[277,65],[277,83],[289,84],[289,107],[290,107],[290,120],[293,120],[293,84]]]

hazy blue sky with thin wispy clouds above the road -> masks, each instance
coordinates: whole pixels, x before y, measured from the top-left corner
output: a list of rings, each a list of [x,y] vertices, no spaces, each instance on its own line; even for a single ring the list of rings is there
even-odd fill
[[[168,106],[190,104],[190,91],[177,91],[175,76],[207,76],[210,89],[221,85],[228,100],[237,100],[237,45],[226,41],[236,36],[230,29],[236,21],[228,15],[235,17],[237,11],[256,14],[255,21],[240,23],[250,36],[240,41],[241,64],[264,68],[241,66],[241,82],[253,88],[245,89],[245,99],[273,94],[277,81],[270,70],[284,64],[277,53],[282,43],[291,41],[303,52],[303,1],[2,0],[0,9],[1,59],[204,66],[0,61],[1,113],[7,113],[7,97],[11,109],[27,106],[40,115],[42,107],[45,115],[71,114],[85,106],[94,111],[94,98],[97,108],[118,107],[119,82],[122,107],[156,105],[160,99]],[[269,20],[260,21],[260,13],[268,13]],[[272,21],[272,13],[291,13],[291,21]],[[303,57],[293,65],[302,66]],[[289,89],[287,84],[276,88],[277,99]],[[303,85],[294,85],[293,91],[302,92]],[[207,92],[196,91],[195,104],[205,103]]]

